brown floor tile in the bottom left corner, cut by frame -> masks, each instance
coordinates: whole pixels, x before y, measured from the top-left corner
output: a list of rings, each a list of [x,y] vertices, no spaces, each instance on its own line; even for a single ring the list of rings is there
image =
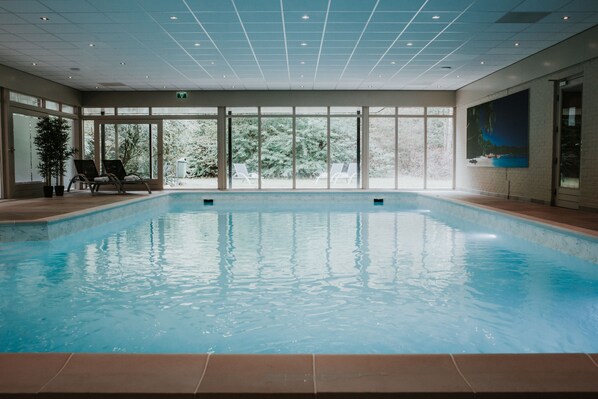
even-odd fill
[[[34,394],[58,374],[69,353],[0,353],[0,397]]]

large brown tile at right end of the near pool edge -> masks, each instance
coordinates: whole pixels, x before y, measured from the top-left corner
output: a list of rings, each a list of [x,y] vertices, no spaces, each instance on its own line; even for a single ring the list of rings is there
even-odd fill
[[[579,395],[575,397],[586,397],[581,396],[585,393],[587,397],[598,398],[598,367],[584,354],[454,355],[454,358],[478,395],[574,393]]]

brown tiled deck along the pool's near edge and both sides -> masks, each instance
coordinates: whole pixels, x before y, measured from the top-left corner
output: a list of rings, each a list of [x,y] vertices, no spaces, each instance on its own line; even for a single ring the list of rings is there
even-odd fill
[[[598,237],[598,213],[467,193],[428,194]],[[145,195],[86,192],[2,201],[0,221],[54,220]],[[37,397],[598,398],[598,354],[1,353],[0,398]]]

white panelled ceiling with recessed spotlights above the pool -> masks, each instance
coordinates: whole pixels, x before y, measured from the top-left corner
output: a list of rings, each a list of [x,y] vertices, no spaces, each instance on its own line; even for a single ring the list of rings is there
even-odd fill
[[[598,0],[0,0],[0,64],[85,91],[456,90],[597,24]]]

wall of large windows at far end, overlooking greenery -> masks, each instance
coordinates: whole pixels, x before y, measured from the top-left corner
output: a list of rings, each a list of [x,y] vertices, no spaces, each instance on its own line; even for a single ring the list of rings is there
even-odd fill
[[[220,110],[224,113],[218,116],[216,107],[88,108],[84,110],[88,116],[83,124],[82,156],[95,158],[100,154],[100,158],[127,158],[127,162],[144,175],[157,176],[155,154],[161,151],[163,184],[167,188],[425,189],[453,186],[451,107],[230,107]],[[163,148],[157,147],[158,131],[152,130],[151,124],[115,123],[121,119],[119,115],[159,121],[163,127]],[[102,130],[94,136],[95,118],[110,123],[100,123]],[[223,142],[218,139],[219,122],[223,124]],[[98,126],[98,122],[95,123]],[[364,130],[364,126],[367,129]],[[135,142],[148,145],[131,146]],[[219,145],[224,146],[221,151]],[[219,154],[226,154],[226,171],[221,171],[225,176],[220,176],[226,177],[223,180],[218,179]],[[367,179],[362,179],[364,174]],[[226,184],[218,187],[219,181]]]

